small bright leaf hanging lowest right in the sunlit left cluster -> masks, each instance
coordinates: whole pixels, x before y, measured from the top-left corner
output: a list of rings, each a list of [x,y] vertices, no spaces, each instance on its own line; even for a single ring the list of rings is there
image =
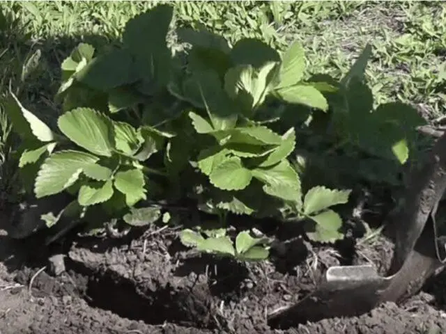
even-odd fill
[[[146,199],[144,189],[144,174],[139,169],[130,169],[116,173],[114,186],[125,195],[125,202],[129,207],[139,200]]]

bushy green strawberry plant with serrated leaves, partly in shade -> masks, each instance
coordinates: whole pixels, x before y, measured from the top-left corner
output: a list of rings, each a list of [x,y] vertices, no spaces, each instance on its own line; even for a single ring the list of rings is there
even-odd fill
[[[79,44],[61,64],[56,129],[10,93],[20,168],[35,196],[68,192],[67,212],[76,218],[99,209],[105,219],[136,226],[164,220],[165,202],[192,199],[223,230],[187,229],[181,241],[239,260],[268,257],[268,242],[244,230],[234,246],[229,214],[303,223],[314,241],[342,239],[332,207],[348,202],[351,191],[315,177],[341,173],[318,161],[401,166],[422,122],[403,104],[374,109],[363,79],[369,49],[341,81],[309,77],[298,42],[279,53],[260,40],[231,46],[210,31],[178,29],[190,47],[174,54],[167,44],[172,17],[171,6],[160,5],[130,19],[121,45],[100,54]],[[43,219],[54,224],[59,216]]]

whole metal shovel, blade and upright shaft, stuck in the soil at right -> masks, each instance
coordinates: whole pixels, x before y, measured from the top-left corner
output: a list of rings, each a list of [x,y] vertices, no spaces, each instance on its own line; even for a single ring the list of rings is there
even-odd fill
[[[436,212],[446,189],[446,134],[420,170],[410,175],[406,196],[390,216],[395,250],[387,276],[367,264],[330,267],[321,285],[298,303],[268,314],[273,328],[306,321],[353,317],[386,301],[401,302],[417,293],[429,276],[445,266],[445,246],[438,237]],[[429,221],[429,223],[428,223]]]

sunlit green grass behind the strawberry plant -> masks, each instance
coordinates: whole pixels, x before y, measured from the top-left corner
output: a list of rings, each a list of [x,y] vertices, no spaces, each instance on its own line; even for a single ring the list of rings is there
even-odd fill
[[[81,40],[99,48],[113,42],[130,17],[160,2],[168,1],[2,2],[0,93],[11,82],[29,109],[54,122],[59,113],[53,102],[59,67],[72,47]],[[334,77],[345,73],[369,42],[374,58],[367,77],[376,103],[408,102],[429,119],[446,113],[442,1],[182,1],[175,7],[176,24],[195,22],[230,42],[263,38],[284,49],[291,40],[301,40],[309,72]],[[6,160],[10,138],[2,115],[0,161]]]

